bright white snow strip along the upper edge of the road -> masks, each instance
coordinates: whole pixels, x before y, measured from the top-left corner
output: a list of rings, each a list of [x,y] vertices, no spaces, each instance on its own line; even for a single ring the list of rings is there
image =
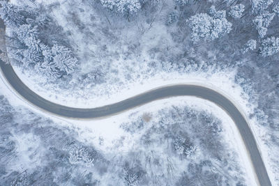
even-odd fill
[[[227,93],[235,100],[241,100],[241,102],[248,104],[245,100],[245,98],[248,98],[248,95],[242,95],[243,93],[241,92],[241,87],[234,83],[235,71],[218,72],[213,75],[209,75],[205,72],[192,72],[185,75],[181,75],[176,72],[161,72],[160,74],[148,79],[137,79],[137,82],[130,83],[126,82],[126,84],[123,84],[118,89],[116,89],[113,84],[103,84],[102,86],[98,86],[92,90],[99,91],[100,95],[92,94],[89,95],[89,99],[84,100],[82,98],[76,98],[75,95],[72,95],[73,97],[63,98],[62,96],[59,96],[58,93],[45,91],[45,88],[40,87],[38,84],[34,84],[34,82],[30,80],[32,77],[33,79],[41,78],[40,75],[30,75],[27,74],[27,72],[22,73],[22,70],[17,66],[14,66],[13,68],[22,82],[24,82],[24,84],[26,84],[32,91],[43,98],[50,100],[51,102],[68,107],[100,107],[105,104],[112,104],[125,100],[146,91],[150,91],[154,88],[172,84],[200,84],[202,86],[218,88],[218,90]],[[109,94],[102,95],[101,93]],[[246,106],[245,104],[242,106]]]

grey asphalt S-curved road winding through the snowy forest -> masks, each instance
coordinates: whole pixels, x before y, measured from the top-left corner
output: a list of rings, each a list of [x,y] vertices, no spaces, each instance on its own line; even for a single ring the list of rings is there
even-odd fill
[[[3,24],[0,24],[0,28],[3,28]],[[19,93],[25,100],[28,100],[31,102],[31,104],[39,107],[40,109],[44,109],[45,111],[49,111],[59,116],[66,116],[70,118],[98,118],[110,116],[113,114],[118,114],[121,111],[133,109],[134,107],[152,102],[154,100],[181,95],[196,96],[205,100],[209,100],[222,107],[234,120],[234,123],[238,127],[244,144],[248,150],[250,160],[252,161],[253,168],[257,175],[257,183],[262,186],[271,185],[266,167],[264,166],[264,162],[262,161],[262,157],[257,148],[255,137],[248,126],[248,122],[241,114],[239,109],[237,109],[229,99],[225,98],[224,95],[221,95],[216,91],[202,86],[179,84],[157,88],[140,95],[135,95],[133,98],[116,102],[114,104],[109,104],[104,107],[79,109],[65,107],[63,105],[55,104],[54,102],[45,100],[44,98],[40,97],[40,95],[37,95],[31,91],[24,83],[22,83],[20,78],[15,74],[15,71],[11,65],[6,64],[0,60],[0,66],[3,76],[6,77],[6,80],[9,82],[10,86],[12,86],[14,90],[17,91],[17,93]]]

